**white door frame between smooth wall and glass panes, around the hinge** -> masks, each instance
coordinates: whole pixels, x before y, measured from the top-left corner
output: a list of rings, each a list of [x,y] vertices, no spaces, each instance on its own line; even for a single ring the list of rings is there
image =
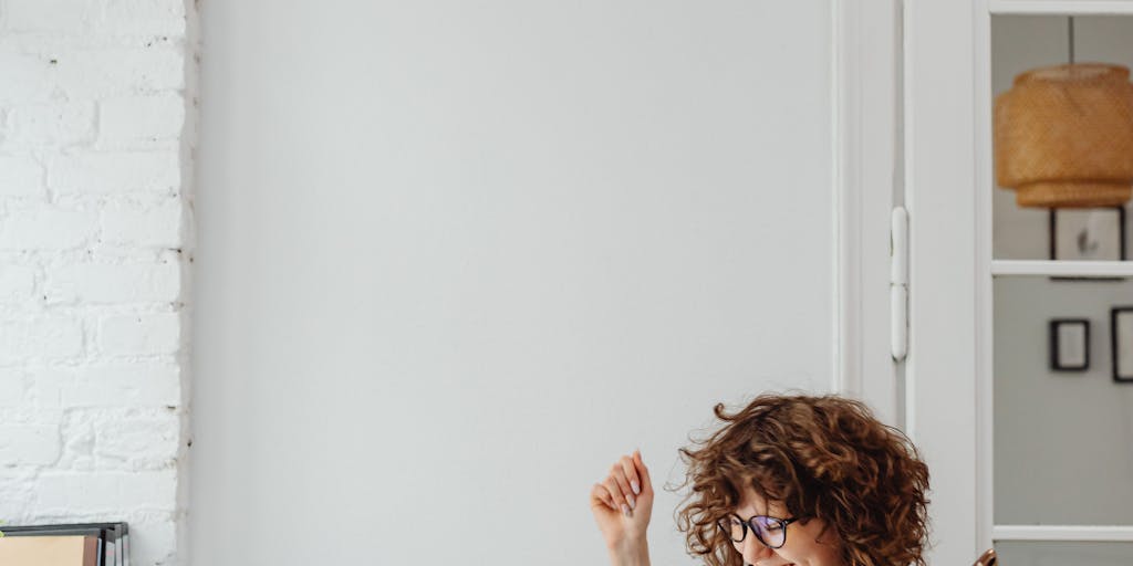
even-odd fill
[[[976,3],[835,2],[838,310],[835,389],[918,446],[931,474],[929,564],[991,546],[981,483],[990,412],[977,248]],[[968,188],[969,190],[964,190]],[[889,355],[889,211],[909,211],[908,357]],[[986,285],[986,288],[980,288]],[[900,323],[897,323],[900,324]]]

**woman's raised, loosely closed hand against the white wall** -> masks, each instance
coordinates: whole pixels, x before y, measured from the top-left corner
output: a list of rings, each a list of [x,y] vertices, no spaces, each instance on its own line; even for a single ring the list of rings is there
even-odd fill
[[[653,482],[641,453],[622,456],[590,490],[590,511],[612,554],[641,554],[648,560],[645,531],[653,514]],[[622,561],[622,560],[619,560]]]

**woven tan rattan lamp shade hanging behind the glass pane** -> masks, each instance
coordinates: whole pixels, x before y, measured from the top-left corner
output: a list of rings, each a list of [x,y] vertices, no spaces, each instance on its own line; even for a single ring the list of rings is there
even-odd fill
[[[1121,206],[1133,195],[1133,84],[1116,65],[1033,69],[995,101],[995,164],[1019,206]]]

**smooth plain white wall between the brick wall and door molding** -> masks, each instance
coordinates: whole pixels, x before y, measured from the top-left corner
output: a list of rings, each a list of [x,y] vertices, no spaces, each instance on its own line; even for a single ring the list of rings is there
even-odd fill
[[[828,388],[829,2],[202,17],[195,564],[602,564],[619,454]]]

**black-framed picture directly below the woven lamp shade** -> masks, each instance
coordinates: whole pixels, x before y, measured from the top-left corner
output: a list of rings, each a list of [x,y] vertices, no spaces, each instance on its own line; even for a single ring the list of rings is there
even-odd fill
[[[1124,261],[1125,207],[1051,208],[1050,259]]]

